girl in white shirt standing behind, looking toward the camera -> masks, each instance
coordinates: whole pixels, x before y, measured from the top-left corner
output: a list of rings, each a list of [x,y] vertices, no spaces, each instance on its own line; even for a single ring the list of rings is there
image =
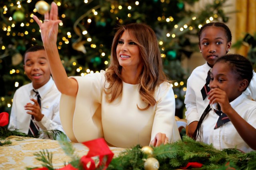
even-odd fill
[[[208,71],[216,60],[226,55],[231,48],[232,35],[227,25],[221,22],[206,23],[198,32],[199,49],[206,63],[193,70],[187,81],[184,104],[186,104],[186,119],[188,122],[188,136],[192,137],[196,125],[204,109],[209,104],[208,96],[202,97],[201,89],[206,84]],[[255,72],[254,72],[255,74]],[[206,84],[205,87],[209,87]],[[256,75],[250,86],[244,91],[247,98],[256,100]]]

